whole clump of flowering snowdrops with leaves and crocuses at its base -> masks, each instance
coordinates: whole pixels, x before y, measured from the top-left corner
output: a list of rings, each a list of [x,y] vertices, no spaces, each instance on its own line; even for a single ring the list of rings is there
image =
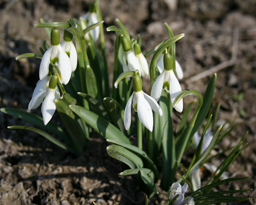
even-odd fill
[[[113,73],[109,73],[111,69],[108,68],[106,33],[99,0],[92,3],[89,14],[80,18],[80,22],[73,18],[66,23],[34,25],[51,32],[51,45],[43,41],[41,54],[22,54],[16,60],[41,58],[39,81],[29,102],[29,111],[42,103],[43,117],[18,109],[1,108],[1,111],[36,124],[62,141],[35,127],[8,128],[29,129],[77,156],[85,151],[91,134],[98,132],[111,144],[106,148],[107,153],[127,164],[128,168],[119,174],[135,176],[139,189],[149,197],[158,193],[159,186],[168,191],[167,205],[218,204],[250,199],[234,195],[250,189],[213,191],[220,189],[221,184],[248,178],[228,178],[225,175],[228,166],[245,148],[240,148],[245,136],[230,148],[232,150],[228,149],[229,153],[218,166],[209,165],[212,158],[219,156],[219,153],[210,156],[215,145],[235,128],[232,123],[225,129],[222,126],[215,128],[218,106],[211,137],[206,132],[212,122],[214,108],[210,108],[217,75],[209,79],[204,97],[193,89],[182,91],[176,78],[176,75],[183,78],[183,72],[176,61],[175,42],[184,34],[174,36],[165,23],[169,37],[160,44],[156,43],[157,47],[147,48],[140,35],[134,39],[119,19],[116,23],[119,28],[107,28],[108,32],[116,34]],[[58,29],[64,29],[61,44]],[[112,85],[109,85],[110,74]],[[150,93],[143,90],[142,83],[142,78],[148,74],[150,82],[144,82],[144,88]],[[183,98],[188,95],[193,95],[196,100],[183,109]],[[55,110],[65,129],[53,122]],[[172,125],[174,113],[176,119],[180,118],[175,128]],[[199,129],[203,129],[202,136],[195,138]],[[137,143],[130,141],[131,136]],[[188,159],[190,156],[186,154],[191,143],[194,156]],[[190,162],[187,167],[182,164],[185,158],[186,164]],[[203,183],[200,177],[202,166],[211,168],[211,176],[205,176]],[[202,184],[206,186],[202,187]]]

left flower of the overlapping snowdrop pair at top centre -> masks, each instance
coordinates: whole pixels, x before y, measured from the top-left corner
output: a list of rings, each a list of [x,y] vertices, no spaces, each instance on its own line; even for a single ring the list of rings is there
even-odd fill
[[[132,52],[132,46],[125,36],[122,36],[122,46],[124,49],[123,71],[139,70],[141,75],[141,64],[135,54]],[[145,59],[146,60],[146,59]],[[143,72],[144,73],[144,72]]]

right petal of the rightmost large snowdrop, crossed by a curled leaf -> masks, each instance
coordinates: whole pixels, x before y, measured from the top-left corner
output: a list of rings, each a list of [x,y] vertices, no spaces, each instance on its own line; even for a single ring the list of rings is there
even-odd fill
[[[173,102],[175,100],[175,98],[177,97],[178,94],[181,93],[181,86],[180,83],[178,81],[178,79],[176,78],[176,76],[173,73],[173,70],[171,70],[170,72],[170,98],[171,98],[171,102],[173,105]],[[177,105],[173,106],[178,112],[182,112],[183,110],[183,99],[181,99]]]

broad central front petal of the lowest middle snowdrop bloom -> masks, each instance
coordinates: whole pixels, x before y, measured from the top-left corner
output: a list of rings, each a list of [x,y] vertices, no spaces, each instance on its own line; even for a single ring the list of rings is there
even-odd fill
[[[141,123],[150,131],[153,131],[153,113],[152,109],[144,98],[143,91],[134,92],[134,98],[137,99],[137,112]]]

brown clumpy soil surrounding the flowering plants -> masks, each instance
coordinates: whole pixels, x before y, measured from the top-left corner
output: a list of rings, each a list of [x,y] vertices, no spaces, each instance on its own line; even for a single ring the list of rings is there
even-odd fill
[[[167,0],[166,0],[167,1]],[[40,60],[15,60],[19,54],[39,53],[43,29],[33,29],[43,17],[48,22],[79,18],[89,8],[89,0],[2,0],[0,1],[0,107],[27,110],[38,80]],[[176,11],[164,1],[100,0],[105,28],[119,18],[128,32],[142,36],[142,49],[150,50],[168,38],[167,22],[175,35],[185,33],[176,44],[177,60],[184,71],[182,88],[202,94],[209,77],[194,82],[189,78],[233,56],[232,65],[217,72],[213,102],[221,102],[220,120],[235,119],[241,124],[220,144],[227,149],[248,131],[244,149],[228,168],[232,177],[251,176],[225,186],[228,189],[255,188],[256,175],[256,3],[254,0],[181,0]],[[109,67],[113,66],[115,34],[106,34]],[[238,45],[238,46],[237,46]],[[149,59],[148,59],[149,60]],[[146,88],[147,90],[147,88]],[[239,97],[240,96],[240,97]],[[185,100],[185,105],[189,100]],[[39,115],[40,109],[33,111]],[[54,119],[60,122],[58,115]],[[29,125],[0,113],[0,203],[7,204],[144,204],[145,193],[136,189],[131,177],[117,173],[127,167],[106,153],[107,142],[93,134],[80,157],[56,147],[32,132],[9,130],[10,125]],[[219,164],[225,155],[215,160]],[[255,204],[256,192],[242,194],[253,200],[233,204]],[[150,204],[165,202],[160,191]]]

